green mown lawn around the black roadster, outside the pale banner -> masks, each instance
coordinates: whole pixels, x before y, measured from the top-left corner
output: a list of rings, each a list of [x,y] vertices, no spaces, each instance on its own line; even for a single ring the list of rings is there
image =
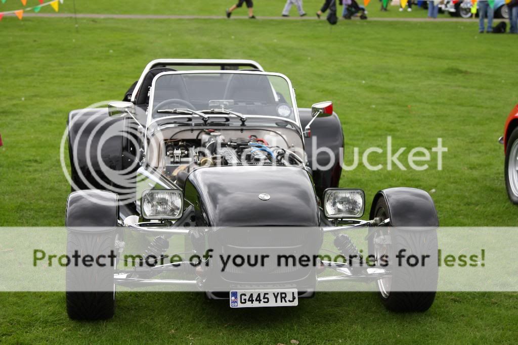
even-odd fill
[[[165,1],[110,3],[97,12],[154,12]],[[92,4],[77,2],[83,12]],[[518,100],[514,36],[478,35],[474,23],[82,19],[76,31],[71,18],[4,18],[0,42],[0,226],[63,225],[68,111],[121,99],[157,57],[250,58],[286,74],[299,106],[335,102],[349,154],[384,148],[389,135],[394,147],[442,138],[442,171],[359,167],[341,185],[368,199],[393,186],[435,190],[444,226],[518,221],[496,142]],[[113,320],[81,323],[67,319],[63,294],[0,293],[0,342],[512,343],[517,306],[515,293],[439,293],[424,314],[392,314],[375,294],[322,293],[297,308],[229,310],[197,294],[122,293]]]

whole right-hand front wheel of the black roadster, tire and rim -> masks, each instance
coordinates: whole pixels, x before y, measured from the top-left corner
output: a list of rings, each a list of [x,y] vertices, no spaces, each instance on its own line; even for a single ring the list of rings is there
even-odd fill
[[[378,199],[375,216],[389,219],[384,198]],[[388,263],[391,274],[378,280],[381,302],[391,311],[426,311],[434,303],[437,288],[437,230],[386,225],[369,230],[369,253],[378,264]]]

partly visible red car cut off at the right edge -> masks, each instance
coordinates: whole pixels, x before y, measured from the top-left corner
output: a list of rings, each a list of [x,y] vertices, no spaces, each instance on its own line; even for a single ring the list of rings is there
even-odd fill
[[[506,153],[506,188],[509,200],[518,204],[518,104],[506,121],[503,137],[499,139]]]

